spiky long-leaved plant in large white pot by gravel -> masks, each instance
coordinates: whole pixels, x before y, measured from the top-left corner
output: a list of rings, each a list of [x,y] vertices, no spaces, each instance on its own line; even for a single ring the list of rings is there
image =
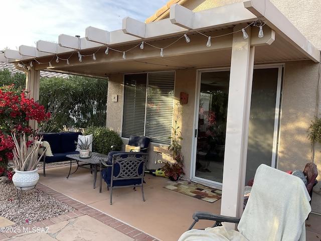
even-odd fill
[[[34,141],[28,141],[25,133],[20,135],[20,140],[17,140],[17,135],[12,134],[15,148],[13,149],[15,174],[12,177],[14,185],[20,190],[29,190],[34,188],[39,180],[37,165],[39,164],[42,155],[39,155],[41,147],[41,138],[35,137]]]

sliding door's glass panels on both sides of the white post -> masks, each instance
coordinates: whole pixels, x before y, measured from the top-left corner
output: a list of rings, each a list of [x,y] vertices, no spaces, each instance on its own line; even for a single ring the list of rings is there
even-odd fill
[[[230,71],[201,73],[195,176],[222,183]],[[282,66],[253,71],[246,181],[264,163],[275,167]]]

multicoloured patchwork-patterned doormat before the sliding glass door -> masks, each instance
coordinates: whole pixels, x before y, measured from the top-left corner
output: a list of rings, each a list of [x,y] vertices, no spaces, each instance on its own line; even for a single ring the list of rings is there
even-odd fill
[[[164,188],[183,193],[185,195],[195,197],[207,202],[215,202],[221,199],[222,196],[221,190],[185,180],[173,182],[172,184],[167,185]]]

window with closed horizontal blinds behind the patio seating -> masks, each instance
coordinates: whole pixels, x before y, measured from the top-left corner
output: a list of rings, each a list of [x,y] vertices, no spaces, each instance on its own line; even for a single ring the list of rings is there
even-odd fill
[[[125,75],[122,137],[171,144],[175,73]]]

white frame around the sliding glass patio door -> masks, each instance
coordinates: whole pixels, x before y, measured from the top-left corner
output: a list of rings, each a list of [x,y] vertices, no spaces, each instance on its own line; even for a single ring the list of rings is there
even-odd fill
[[[276,101],[275,101],[275,116],[274,116],[274,132],[273,132],[273,149],[272,149],[272,160],[271,167],[277,166],[277,151],[279,143],[279,121],[281,113],[281,88],[282,88],[282,77],[284,64],[266,64],[266,65],[255,65],[254,69],[264,68],[278,68],[277,77],[277,89],[276,89]],[[201,77],[204,72],[219,72],[230,70],[230,67],[226,68],[209,68],[197,70],[197,81],[196,81],[196,98],[195,98],[195,113],[194,113],[194,138],[192,142],[191,152],[191,180],[197,183],[203,183],[214,188],[222,188],[222,183],[211,181],[196,176],[196,155],[197,155],[197,135],[198,135],[198,118],[199,118],[199,105],[200,105],[200,91],[201,91]]]

